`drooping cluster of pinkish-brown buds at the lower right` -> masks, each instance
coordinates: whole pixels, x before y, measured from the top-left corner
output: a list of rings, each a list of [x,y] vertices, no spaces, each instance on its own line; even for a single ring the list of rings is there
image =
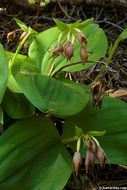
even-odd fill
[[[104,150],[100,147],[100,145],[98,145],[96,147],[96,144],[91,137],[88,138],[86,147],[87,147],[86,159],[85,159],[86,173],[88,173],[89,169],[94,168],[95,157],[99,161],[101,168],[105,167],[105,161],[106,160],[109,163],[109,160],[108,160]],[[75,172],[76,176],[77,176],[78,175],[78,169],[82,164],[82,156],[81,156],[80,152],[77,151],[74,153],[72,164],[73,164],[73,173]]]

